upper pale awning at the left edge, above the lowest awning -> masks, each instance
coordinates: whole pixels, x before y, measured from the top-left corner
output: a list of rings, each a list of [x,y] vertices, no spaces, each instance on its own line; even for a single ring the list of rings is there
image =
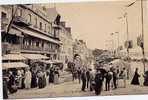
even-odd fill
[[[21,54],[6,54],[2,56],[2,60],[26,60]]]

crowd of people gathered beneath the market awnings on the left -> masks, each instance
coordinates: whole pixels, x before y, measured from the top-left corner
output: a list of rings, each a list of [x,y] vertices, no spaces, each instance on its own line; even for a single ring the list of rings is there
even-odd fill
[[[17,92],[18,89],[44,88],[47,84],[59,83],[59,68],[53,66],[48,70],[31,70],[30,67],[3,73],[3,96]]]

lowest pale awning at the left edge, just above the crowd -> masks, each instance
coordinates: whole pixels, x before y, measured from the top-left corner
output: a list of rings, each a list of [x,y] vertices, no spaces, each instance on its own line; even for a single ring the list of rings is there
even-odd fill
[[[10,68],[25,68],[29,67],[27,64],[22,62],[8,62],[2,63],[2,69],[10,69]]]

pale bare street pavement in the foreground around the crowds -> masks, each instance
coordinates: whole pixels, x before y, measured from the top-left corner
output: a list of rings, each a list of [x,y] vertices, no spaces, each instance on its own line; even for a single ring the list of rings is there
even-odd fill
[[[64,78],[65,77],[65,78]],[[90,92],[86,89],[86,92],[81,91],[81,84],[78,81],[72,81],[71,74],[65,73],[60,78],[60,83],[48,84],[43,89],[22,89],[18,92],[9,95],[10,99],[30,99],[30,98],[54,98],[54,97],[83,97],[83,96],[95,96],[94,91]],[[148,87],[145,86],[133,86],[130,85],[130,81],[127,81],[127,87],[122,88],[122,80],[119,81],[119,88],[112,89],[110,91],[102,91],[101,96],[113,96],[113,95],[140,95],[148,94]]]

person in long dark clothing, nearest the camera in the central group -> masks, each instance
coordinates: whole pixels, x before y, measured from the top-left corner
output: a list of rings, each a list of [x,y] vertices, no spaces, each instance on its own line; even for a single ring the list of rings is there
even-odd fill
[[[103,75],[100,70],[97,70],[95,76],[95,94],[99,95],[102,90]]]

